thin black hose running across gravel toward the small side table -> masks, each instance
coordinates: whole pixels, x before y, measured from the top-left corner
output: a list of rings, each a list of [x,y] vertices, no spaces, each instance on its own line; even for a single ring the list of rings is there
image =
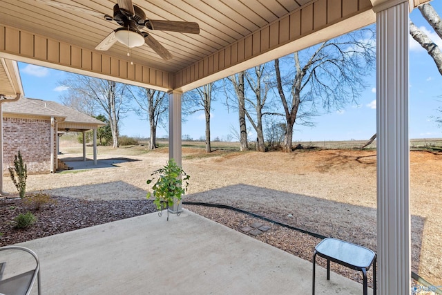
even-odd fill
[[[211,204],[211,203],[204,203],[204,202],[182,202],[182,204],[184,204],[184,205],[204,206],[204,207],[215,207],[215,208],[220,208],[220,209],[229,209],[229,210],[232,210],[232,211],[237,211],[237,212],[240,212],[240,213],[247,214],[249,216],[260,218],[262,220],[266,220],[266,221],[271,222],[271,223],[273,223],[275,225],[280,225],[281,227],[286,227],[287,229],[293,229],[294,231],[299,231],[302,234],[308,234],[310,236],[314,236],[315,238],[320,238],[321,240],[327,238],[326,236],[323,236],[321,234],[312,233],[311,231],[306,231],[305,229],[300,229],[298,227],[292,227],[291,225],[286,225],[285,223],[278,222],[276,220],[271,220],[270,218],[267,218],[267,217],[264,217],[264,216],[260,216],[260,215],[258,215],[256,213],[252,213],[252,212],[245,211],[245,210],[242,210],[242,209],[238,209],[238,208],[235,208],[235,207],[231,207],[229,205]],[[438,289],[432,283],[429,283],[424,278],[421,278],[421,276],[419,276],[419,274],[416,274],[415,272],[412,272],[412,278],[414,278],[414,280],[419,282],[421,285],[425,286],[426,287],[425,289],[428,289],[428,291],[432,291],[432,292],[435,292],[436,294],[442,295],[441,289]],[[415,293],[413,293],[413,294],[415,294]]]

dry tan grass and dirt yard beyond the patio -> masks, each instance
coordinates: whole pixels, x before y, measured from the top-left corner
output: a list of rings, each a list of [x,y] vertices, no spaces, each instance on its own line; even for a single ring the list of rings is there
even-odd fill
[[[79,149],[61,146],[64,157]],[[376,251],[376,151],[300,150],[294,153],[183,149],[191,175],[185,201],[238,207],[294,227]],[[27,190],[86,200],[146,196],[146,179],[166,163],[165,148],[99,147],[99,159],[130,158],[119,167],[29,175]],[[442,154],[411,152],[412,269],[442,285]],[[5,177],[5,191],[15,192]],[[313,251],[313,250],[311,250]]]

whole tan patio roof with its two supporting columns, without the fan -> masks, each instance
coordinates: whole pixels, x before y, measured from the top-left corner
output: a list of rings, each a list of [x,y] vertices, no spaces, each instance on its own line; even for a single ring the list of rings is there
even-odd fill
[[[59,1],[108,15],[115,4]],[[169,156],[179,164],[183,91],[376,22],[378,288],[409,294],[408,14],[427,0],[133,1],[152,19],[200,23],[200,35],[153,31],[174,56],[168,61],[148,46],[97,51],[116,23],[41,1],[3,0],[0,58],[168,91]]]

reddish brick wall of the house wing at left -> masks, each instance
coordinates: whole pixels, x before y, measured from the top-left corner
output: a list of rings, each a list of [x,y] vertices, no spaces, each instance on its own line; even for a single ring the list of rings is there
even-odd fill
[[[14,165],[14,156],[21,152],[28,165],[28,174],[50,173],[50,120],[3,117],[3,175]],[[54,126],[54,171],[57,162]]]

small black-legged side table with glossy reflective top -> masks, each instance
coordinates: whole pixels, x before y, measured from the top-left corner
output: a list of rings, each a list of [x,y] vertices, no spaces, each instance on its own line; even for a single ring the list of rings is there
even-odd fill
[[[327,259],[327,280],[330,279],[330,261],[361,271],[364,295],[367,295],[367,270],[373,265],[373,294],[376,295],[376,254],[374,251],[337,238],[325,238],[320,241],[313,254],[313,295],[315,294],[316,255]]]

